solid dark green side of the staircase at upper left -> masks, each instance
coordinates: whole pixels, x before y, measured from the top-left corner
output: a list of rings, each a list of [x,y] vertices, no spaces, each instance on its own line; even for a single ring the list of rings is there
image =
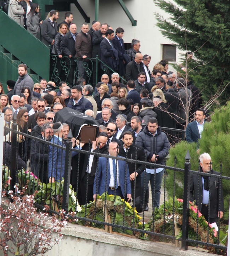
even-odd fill
[[[50,78],[50,49],[0,10],[0,81],[18,78],[20,63],[34,81]]]

